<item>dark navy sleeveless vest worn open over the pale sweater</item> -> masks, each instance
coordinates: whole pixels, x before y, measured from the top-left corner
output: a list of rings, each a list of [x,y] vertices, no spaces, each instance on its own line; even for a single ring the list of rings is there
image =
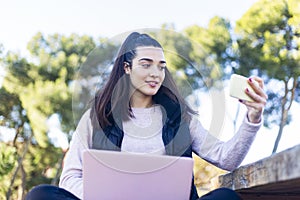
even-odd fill
[[[189,123],[185,122],[181,116],[180,105],[172,101],[166,95],[160,94],[155,102],[162,107],[163,128],[162,139],[167,155],[192,157],[192,141],[189,130]],[[92,117],[92,115],[91,115]],[[94,118],[94,117],[93,117]],[[99,122],[94,118],[93,124],[93,149],[121,151],[124,132],[122,120],[118,117],[109,119],[111,125],[103,130],[99,127]],[[97,128],[98,127],[98,128]],[[198,199],[194,179],[192,180],[190,199]]]

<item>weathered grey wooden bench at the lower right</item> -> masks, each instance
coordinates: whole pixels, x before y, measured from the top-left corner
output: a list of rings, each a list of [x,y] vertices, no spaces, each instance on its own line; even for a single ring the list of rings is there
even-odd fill
[[[219,177],[245,200],[300,200],[300,145]]]

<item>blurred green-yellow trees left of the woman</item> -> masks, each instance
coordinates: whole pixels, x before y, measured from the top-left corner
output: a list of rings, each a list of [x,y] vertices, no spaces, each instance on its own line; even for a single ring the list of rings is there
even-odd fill
[[[59,173],[63,152],[50,142],[46,120],[56,113],[64,132],[74,129],[72,81],[95,46],[89,36],[37,33],[28,43],[31,60],[13,52],[3,58],[7,75],[0,90],[1,102],[6,102],[0,106],[1,125],[16,130],[7,145],[17,159],[14,169],[3,176],[9,179],[2,196],[22,198],[31,187],[51,183]]]

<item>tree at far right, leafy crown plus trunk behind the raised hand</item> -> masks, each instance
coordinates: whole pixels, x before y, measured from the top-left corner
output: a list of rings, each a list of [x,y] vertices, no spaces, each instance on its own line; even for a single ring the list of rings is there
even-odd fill
[[[281,82],[278,92],[270,87],[265,125],[279,124],[274,145],[276,152],[283,127],[289,122],[288,111],[299,99],[300,5],[298,0],[261,0],[253,5],[236,25],[238,44],[237,72],[256,72],[266,80]],[[280,102],[275,108],[274,103]],[[274,118],[274,116],[278,116]]]

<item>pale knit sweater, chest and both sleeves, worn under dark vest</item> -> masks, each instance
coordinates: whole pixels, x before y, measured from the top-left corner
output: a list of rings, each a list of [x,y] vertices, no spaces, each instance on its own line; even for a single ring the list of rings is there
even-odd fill
[[[135,118],[123,122],[124,138],[121,150],[138,153],[165,154],[162,141],[162,111],[159,106],[133,108]],[[248,122],[245,117],[237,133],[223,142],[210,135],[196,116],[192,117],[189,128],[192,148],[201,158],[225,170],[238,167],[245,158],[261,126]],[[82,152],[92,147],[93,127],[90,110],[81,118],[72,136],[69,151],[59,186],[82,198]]]

